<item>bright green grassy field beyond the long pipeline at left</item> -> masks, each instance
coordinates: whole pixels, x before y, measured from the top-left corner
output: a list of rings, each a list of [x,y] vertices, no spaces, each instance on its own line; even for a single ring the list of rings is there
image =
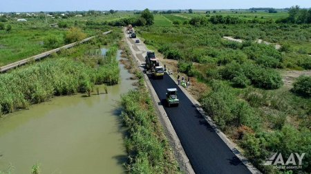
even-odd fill
[[[129,17],[133,14],[120,13],[98,17],[70,17],[68,19],[34,19],[26,18],[26,22],[9,19],[5,25],[12,25],[12,30],[0,30],[0,67],[28,58],[41,52],[52,50],[65,44],[64,36],[70,27],[82,28],[87,36],[93,36],[97,31],[111,30],[106,25],[93,25]],[[50,27],[51,24],[66,23],[66,28]],[[48,39],[53,39],[53,46],[47,45]]]

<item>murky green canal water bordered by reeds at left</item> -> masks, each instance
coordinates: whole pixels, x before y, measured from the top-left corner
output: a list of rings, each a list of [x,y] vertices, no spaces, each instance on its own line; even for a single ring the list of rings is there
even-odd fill
[[[120,52],[118,52],[120,58]],[[0,120],[0,171],[30,173],[124,173],[120,95],[133,89],[131,74],[120,65],[120,83],[108,94],[55,97]]]

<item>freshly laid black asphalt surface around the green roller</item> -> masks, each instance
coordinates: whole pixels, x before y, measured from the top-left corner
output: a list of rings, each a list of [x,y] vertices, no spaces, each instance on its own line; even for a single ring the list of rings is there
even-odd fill
[[[250,173],[169,75],[164,74],[163,79],[153,79],[151,75],[148,76],[160,98],[161,103],[158,105],[164,106],[191,166],[197,174]],[[178,107],[167,107],[165,102],[167,88],[178,89],[180,100]]]

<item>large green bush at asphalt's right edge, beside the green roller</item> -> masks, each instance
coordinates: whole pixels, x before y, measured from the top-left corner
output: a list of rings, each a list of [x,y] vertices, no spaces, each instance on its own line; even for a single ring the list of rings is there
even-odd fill
[[[220,129],[246,125],[256,129],[260,118],[246,102],[236,98],[234,91],[223,82],[211,81],[212,91],[200,98],[202,108],[211,116]]]

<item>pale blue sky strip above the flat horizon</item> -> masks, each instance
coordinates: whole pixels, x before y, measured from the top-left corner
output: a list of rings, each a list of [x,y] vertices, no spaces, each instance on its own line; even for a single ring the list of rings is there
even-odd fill
[[[0,12],[288,8],[294,5],[311,8],[311,0],[0,0]]]

